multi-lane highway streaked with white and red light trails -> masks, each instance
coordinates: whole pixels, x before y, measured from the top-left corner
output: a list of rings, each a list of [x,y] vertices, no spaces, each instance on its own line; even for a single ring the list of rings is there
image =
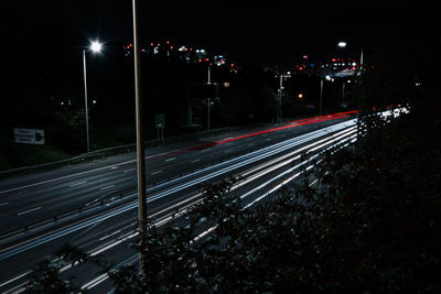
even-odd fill
[[[202,197],[202,183],[243,176],[232,193],[246,207],[269,198],[300,175],[301,154],[356,140],[355,112],[235,130],[148,149],[148,215],[163,225]],[[313,184],[313,183],[312,183]],[[0,292],[20,292],[39,261],[64,243],[127,264],[137,228],[133,153],[0,182]],[[111,288],[96,266],[63,269],[92,292]]]

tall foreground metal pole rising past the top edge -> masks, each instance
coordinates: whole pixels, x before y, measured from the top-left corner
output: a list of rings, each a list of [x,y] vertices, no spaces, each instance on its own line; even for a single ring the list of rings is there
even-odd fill
[[[143,104],[141,96],[138,0],[132,0],[132,6],[133,6],[135,100],[136,100],[136,123],[137,123],[138,220],[139,220],[139,232],[141,237],[139,265],[141,275],[144,275],[147,200],[146,200],[146,162],[144,162],[143,115],[142,115]]]

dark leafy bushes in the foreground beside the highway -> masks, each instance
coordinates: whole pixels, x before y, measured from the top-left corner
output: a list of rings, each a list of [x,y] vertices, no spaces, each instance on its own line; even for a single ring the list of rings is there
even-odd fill
[[[232,182],[207,186],[187,225],[149,227],[149,292],[435,292],[441,274],[440,123],[416,109],[368,117],[356,146],[325,154],[308,181],[241,209]],[[212,233],[197,238],[201,226]],[[128,271],[130,273],[130,271]],[[130,273],[132,275],[132,273]],[[118,276],[123,292],[132,280]]]

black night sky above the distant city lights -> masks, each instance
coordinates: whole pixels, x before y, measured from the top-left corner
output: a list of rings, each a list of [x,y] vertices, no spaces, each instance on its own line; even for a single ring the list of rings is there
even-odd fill
[[[258,63],[329,56],[340,40],[356,52],[376,31],[421,18],[421,8],[409,1],[140,3],[143,43],[170,39]],[[2,40],[12,52],[23,45],[80,47],[96,37],[109,47],[132,42],[131,0],[2,0],[1,7]]]

